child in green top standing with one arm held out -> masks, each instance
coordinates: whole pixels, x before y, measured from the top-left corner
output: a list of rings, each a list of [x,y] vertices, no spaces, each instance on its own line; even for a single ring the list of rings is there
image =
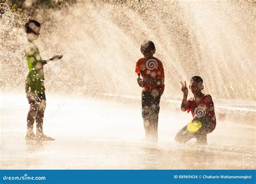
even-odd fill
[[[27,116],[26,140],[55,140],[45,136],[43,133],[44,110],[46,107],[44,88],[43,65],[52,60],[59,60],[63,55],[55,55],[48,60],[42,60],[39,50],[34,40],[40,34],[41,24],[36,20],[29,20],[25,24],[28,42],[25,44],[25,55],[28,62],[29,73],[26,76],[26,97],[28,98],[30,109]],[[33,124],[36,119],[36,135],[33,133]]]

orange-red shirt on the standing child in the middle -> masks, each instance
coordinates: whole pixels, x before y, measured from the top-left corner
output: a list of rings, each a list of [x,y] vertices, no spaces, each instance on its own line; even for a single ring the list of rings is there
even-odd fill
[[[145,61],[145,58],[140,58],[136,62],[135,72],[138,75],[142,75],[143,79],[161,79],[161,82],[157,84],[147,84],[143,90],[151,92],[153,90],[158,90],[161,94],[164,93],[164,67],[163,63],[157,59],[152,58]]]

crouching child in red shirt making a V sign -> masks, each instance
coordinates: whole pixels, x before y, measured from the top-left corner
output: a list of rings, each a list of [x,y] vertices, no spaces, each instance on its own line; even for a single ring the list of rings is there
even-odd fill
[[[191,133],[187,130],[187,125],[181,129],[175,140],[178,143],[186,143],[192,138],[197,139],[199,144],[207,144],[207,133],[211,133],[216,126],[216,117],[214,113],[214,104],[211,95],[201,93],[204,89],[203,79],[200,76],[193,76],[190,80],[190,86],[193,93],[193,97],[187,101],[188,89],[186,87],[186,81],[182,84],[181,90],[183,91],[183,101],[181,103],[181,110],[192,113],[193,123],[201,122],[201,128]]]

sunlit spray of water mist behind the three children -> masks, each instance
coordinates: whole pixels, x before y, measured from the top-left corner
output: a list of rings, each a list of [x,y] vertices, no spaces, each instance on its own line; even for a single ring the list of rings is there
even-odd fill
[[[1,19],[1,87],[8,90],[24,87],[26,18],[7,11]],[[200,75],[215,101],[255,100],[253,3],[83,2],[35,18],[43,23],[42,57],[64,54],[45,67],[47,91],[138,96],[134,67],[140,44],[151,39],[165,67],[165,98],[179,99],[179,81]]]

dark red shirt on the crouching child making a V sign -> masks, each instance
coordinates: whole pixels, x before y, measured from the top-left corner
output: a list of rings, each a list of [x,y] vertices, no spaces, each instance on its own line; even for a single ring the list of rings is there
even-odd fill
[[[196,110],[196,111],[195,111]],[[192,116],[194,117],[195,112],[199,115],[199,117],[204,116],[210,119],[210,128],[215,128],[216,125],[216,117],[214,112],[214,104],[212,101],[211,95],[205,94],[199,104],[194,101],[194,97],[190,98],[187,101],[187,112],[192,112]]]

